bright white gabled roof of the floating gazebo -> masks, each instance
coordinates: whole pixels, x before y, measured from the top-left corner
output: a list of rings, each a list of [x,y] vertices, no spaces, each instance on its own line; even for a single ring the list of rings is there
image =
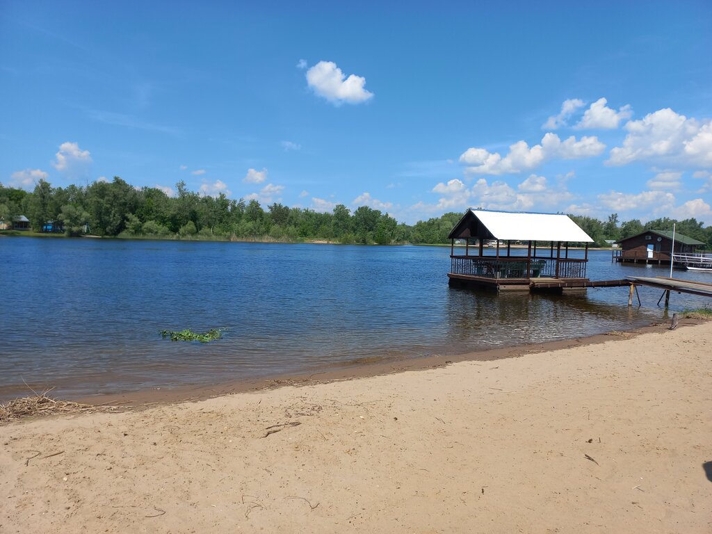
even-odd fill
[[[466,237],[502,241],[593,242],[567,215],[486,209],[468,209],[448,239]]]

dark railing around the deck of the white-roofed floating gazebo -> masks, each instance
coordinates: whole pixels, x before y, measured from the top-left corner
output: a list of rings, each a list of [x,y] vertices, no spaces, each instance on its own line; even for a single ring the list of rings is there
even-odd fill
[[[586,278],[584,259],[451,256],[451,273],[481,278]]]

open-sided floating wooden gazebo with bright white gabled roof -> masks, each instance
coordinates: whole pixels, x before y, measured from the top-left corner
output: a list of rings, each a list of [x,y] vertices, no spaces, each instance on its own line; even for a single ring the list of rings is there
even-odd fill
[[[557,289],[587,286],[585,231],[566,215],[468,209],[450,232],[451,286],[496,290]],[[455,240],[464,240],[464,253]],[[486,246],[491,241],[496,245]],[[577,256],[570,244],[585,244]],[[517,253],[513,253],[517,244]],[[459,247],[460,248],[460,247]]]

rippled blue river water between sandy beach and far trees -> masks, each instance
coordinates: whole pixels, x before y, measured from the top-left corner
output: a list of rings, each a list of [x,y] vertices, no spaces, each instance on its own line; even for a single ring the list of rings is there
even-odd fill
[[[0,398],[216,384],[634,328],[661,291],[449,288],[449,247],[0,238]],[[514,251],[513,251],[514,253]],[[574,253],[571,254],[574,256]],[[666,276],[590,254],[592,280]],[[706,273],[676,271],[679,278]],[[672,295],[671,309],[710,299]],[[159,330],[224,329],[209,344]]]

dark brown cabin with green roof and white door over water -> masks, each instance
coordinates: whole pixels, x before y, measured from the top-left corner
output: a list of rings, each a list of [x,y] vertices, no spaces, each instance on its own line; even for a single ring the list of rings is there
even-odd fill
[[[617,241],[620,245],[620,250],[616,251],[614,258],[618,262],[670,265],[672,241],[672,231],[646,230],[635,236]],[[675,234],[676,256],[678,254],[693,253],[703,245],[702,241],[697,241],[683,234]]]

